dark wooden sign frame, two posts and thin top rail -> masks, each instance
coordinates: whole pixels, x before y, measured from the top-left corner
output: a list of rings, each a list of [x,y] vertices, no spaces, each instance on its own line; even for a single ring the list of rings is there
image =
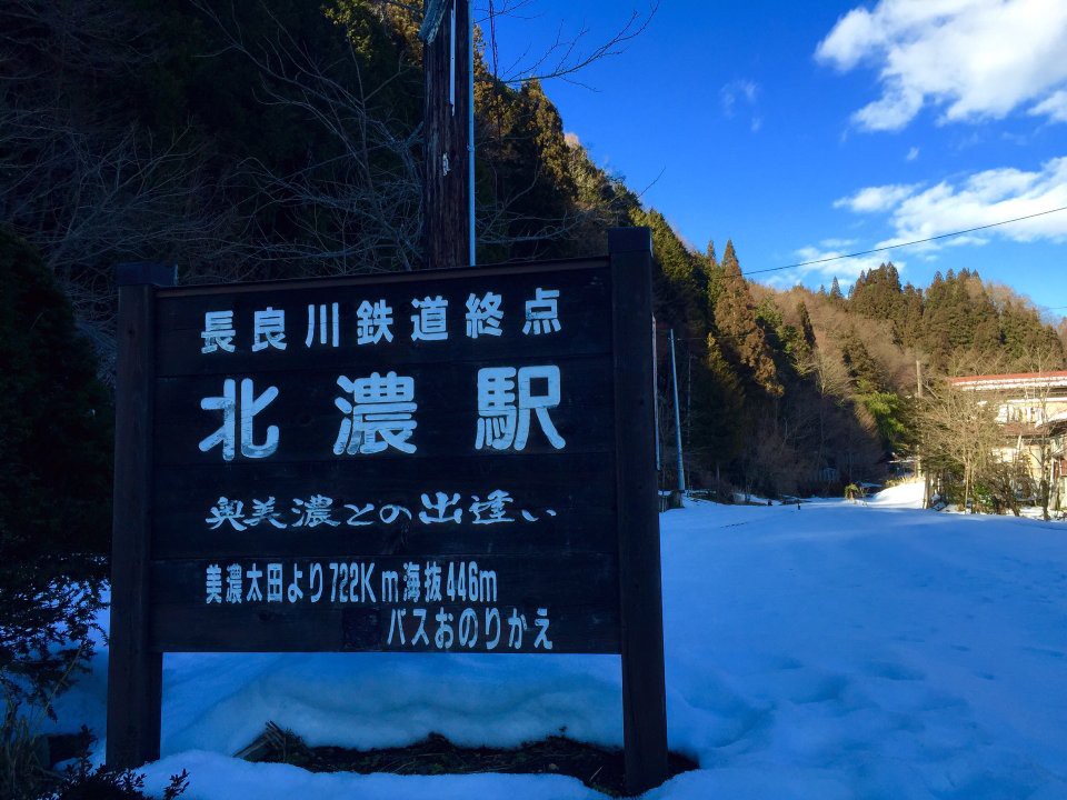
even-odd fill
[[[654,374],[651,329],[651,238],[647,228],[609,231],[609,253],[601,259],[433,270],[376,279],[341,278],[316,281],[278,281],[270,284],[173,288],[173,272],[158,264],[121,264],[119,282],[119,359],[116,378],[116,471],[112,551],[110,662],[108,678],[107,761],[112,767],[138,767],[159,758],[162,653],[174,650],[223,650],[208,641],[181,648],[168,639],[166,626],[153,606],[162,591],[161,569],[169,562],[153,561],[159,547],[154,532],[166,528],[162,511],[154,508],[157,461],[153,451],[166,426],[156,424],[157,409],[168,409],[159,396],[157,356],[166,348],[160,330],[160,309],[174,306],[177,297],[225,296],[228,292],[273,292],[346,289],[353,286],[403,282],[418,290],[421,282],[476,279],[485,276],[564,274],[582,269],[600,270],[610,284],[610,320],[596,318],[610,341],[610,403],[614,458],[606,461],[614,476],[614,519],[618,547],[617,646],[591,649],[571,647],[568,652],[618,652],[622,659],[622,710],[626,788],[639,793],[667,777],[667,714],[664,674],[664,627],[654,432]],[[171,302],[170,306],[161,303]],[[592,313],[604,309],[594,309]],[[590,322],[589,324],[594,324]],[[594,326],[596,327],[596,326]],[[310,333],[309,333],[310,336]],[[202,449],[202,448],[201,448]],[[614,464],[614,466],[612,466]],[[423,501],[425,502],[425,501]],[[544,553],[552,556],[550,551]],[[614,558],[614,556],[612,556]],[[166,581],[164,581],[166,582]],[[612,590],[614,591],[614,590]],[[161,627],[162,626],[162,627]],[[360,634],[351,647],[326,643],[315,649],[368,650]],[[237,648],[260,649],[257,642]],[[348,640],[346,639],[346,642]],[[608,647],[608,649],[605,649]],[[279,647],[277,649],[292,649]]]

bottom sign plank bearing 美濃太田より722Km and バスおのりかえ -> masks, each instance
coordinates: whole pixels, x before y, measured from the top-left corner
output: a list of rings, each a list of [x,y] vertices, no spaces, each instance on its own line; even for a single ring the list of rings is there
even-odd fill
[[[233,652],[447,650],[456,648],[432,638],[417,641],[416,609],[426,611],[428,626],[443,609],[452,614],[453,623],[463,614],[473,614],[481,619],[482,627],[492,613],[489,609],[497,609],[503,620],[526,614],[528,634],[537,632],[536,619],[545,619],[554,644],[551,652],[617,651],[618,569],[612,556],[472,553],[423,558],[413,562],[421,581],[417,599],[405,600],[408,563],[412,562],[397,557],[341,562],[328,557],[286,561],[270,554],[246,558],[232,564],[242,583],[231,596],[226,580],[231,564],[203,559],[158,561],[153,564],[154,642],[161,650]],[[439,598],[427,597],[426,574],[431,564],[440,568]],[[266,584],[272,566],[278,570],[273,601]],[[208,578],[216,567],[221,583],[213,594],[208,590]],[[253,572],[258,593],[252,592]],[[307,626],[292,640],[301,621]],[[397,624],[407,626],[403,641],[396,629],[390,636],[390,627]],[[430,630],[431,636],[436,628]],[[545,650],[528,640],[525,647],[493,644],[481,651],[518,649]]]

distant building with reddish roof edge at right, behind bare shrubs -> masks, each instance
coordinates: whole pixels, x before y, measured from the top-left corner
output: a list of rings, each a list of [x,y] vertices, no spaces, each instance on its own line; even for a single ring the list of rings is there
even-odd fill
[[[1005,442],[997,454],[1003,461],[1020,459],[1035,482],[1041,479],[1041,443],[1049,446],[1049,508],[1067,506],[1067,370],[964,376],[950,383],[998,403]]]

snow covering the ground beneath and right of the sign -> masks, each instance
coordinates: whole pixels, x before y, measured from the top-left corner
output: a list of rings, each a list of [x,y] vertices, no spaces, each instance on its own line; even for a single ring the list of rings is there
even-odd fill
[[[649,798],[1067,798],[1067,526],[915,494],[661,516],[669,742],[700,770]],[[106,659],[61,698],[62,727],[102,733]],[[268,720],[310,744],[621,746],[617,657],[172,654],[163,682],[149,786],[187,768],[201,800],[602,797],[228,757]]]

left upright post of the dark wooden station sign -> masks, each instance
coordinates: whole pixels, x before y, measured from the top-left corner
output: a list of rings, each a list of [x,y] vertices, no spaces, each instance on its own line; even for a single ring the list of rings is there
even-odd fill
[[[107,762],[114,768],[159,758],[162,659],[150,647],[149,608],[154,331],[150,282],[167,277],[158,264],[119,269],[107,712]]]

